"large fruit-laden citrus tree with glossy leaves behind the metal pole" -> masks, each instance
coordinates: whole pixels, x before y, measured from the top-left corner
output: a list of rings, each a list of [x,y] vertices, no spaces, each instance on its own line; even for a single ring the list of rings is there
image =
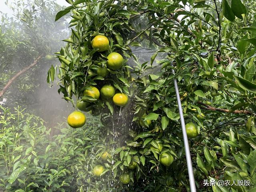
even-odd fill
[[[254,3],[67,2],[56,20],[72,13],[72,35],[48,82],[58,76],[63,98],[102,122],[80,190],[190,191],[176,78],[198,191],[254,191]],[[140,46],[150,61],[133,53]]]

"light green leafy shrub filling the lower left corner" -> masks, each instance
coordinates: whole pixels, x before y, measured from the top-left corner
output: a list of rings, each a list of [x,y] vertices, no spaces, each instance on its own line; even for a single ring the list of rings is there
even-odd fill
[[[90,163],[85,157],[92,148],[89,142],[97,136],[91,131],[96,131],[99,122],[89,118],[84,128],[76,130],[62,123],[56,127],[60,134],[51,137],[51,129],[41,118],[24,113],[20,107],[14,112],[0,107],[0,189],[76,191],[76,182],[84,182],[77,177],[79,169],[83,171]]]

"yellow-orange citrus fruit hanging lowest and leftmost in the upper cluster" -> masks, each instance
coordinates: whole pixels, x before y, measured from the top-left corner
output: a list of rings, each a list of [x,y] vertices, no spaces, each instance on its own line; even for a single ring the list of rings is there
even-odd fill
[[[74,111],[68,116],[68,125],[72,128],[82,127],[86,122],[86,116],[80,111]]]

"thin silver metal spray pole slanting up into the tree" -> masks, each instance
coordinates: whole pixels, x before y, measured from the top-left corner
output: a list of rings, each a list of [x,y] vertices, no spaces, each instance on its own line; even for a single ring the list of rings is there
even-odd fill
[[[175,73],[174,69],[172,69],[172,73],[173,74]],[[174,81],[174,88],[175,88],[175,91],[176,91],[176,98],[177,98],[178,108],[179,108],[179,113],[180,113],[180,123],[181,123],[181,127],[182,127],[183,139],[184,139],[186,161],[187,161],[187,166],[188,166],[188,177],[189,177],[189,183],[190,183],[190,190],[191,190],[191,192],[196,192],[196,184],[195,184],[195,179],[194,179],[192,161],[191,161],[191,157],[190,157],[188,137],[187,137],[186,128],[185,128],[185,121],[184,121],[184,117],[183,117],[182,106],[181,106],[181,102],[180,102],[179,88],[178,88],[177,80],[176,80],[175,77],[173,78],[173,81]]]

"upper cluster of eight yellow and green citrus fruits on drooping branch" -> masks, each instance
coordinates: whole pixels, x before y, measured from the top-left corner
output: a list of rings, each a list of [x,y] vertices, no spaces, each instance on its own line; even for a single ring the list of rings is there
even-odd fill
[[[109,40],[106,36],[97,35],[92,39],[91,42],[92,48],[97,48],[98,52],[104,52],[109,50]],[[110,70],[119,70],[122,68],[124,63],[124,58],[121,54],[117,52],[112,52],[108,54],[106,66],[99,66],[96,69],[96,73],[106,78],[108,76],[108,69]],[[83,92],[83,96],[89,96],[89,98],[93,98],[93,102],[97,101],[98,99],[102,100],[111,100],[113,103],[117,106],[125,106],[128,103],[128,96],[125,93],[118,92],[116,93],[114,86],[111,84],[105,84],[103,85],[100,90],[95,86],[88,86]],[[92,102],[87,101],[78,101],[77,102],[77,108],[81,111],[90,111]],[[72,112],[68,116],[68,124],[73,128],[79,128],[82,127],[86,122],[86,116],[82,112]]]

